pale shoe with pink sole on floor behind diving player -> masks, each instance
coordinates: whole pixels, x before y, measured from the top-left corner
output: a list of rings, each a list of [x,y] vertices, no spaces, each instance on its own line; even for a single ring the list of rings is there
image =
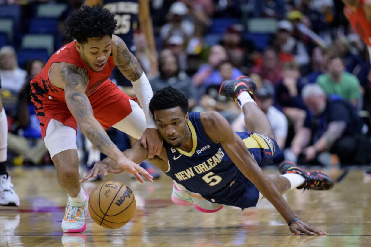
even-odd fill
[[[175,184],[173,186],[173,194],[171,194],[171,201],[181,206],[193,205],[198,211],[204,213],[214,213],[223,208],[223,205],[207,201],[198,193],[178,190]]]

